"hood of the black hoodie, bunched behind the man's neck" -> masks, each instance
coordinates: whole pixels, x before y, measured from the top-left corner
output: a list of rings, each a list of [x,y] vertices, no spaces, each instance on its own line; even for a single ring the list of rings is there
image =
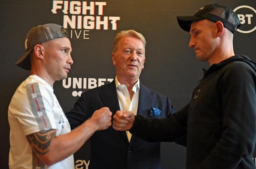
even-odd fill
[[[232,56],[228,59],[225,59],[223,61],[221,61],[218,64],[213,64],[208,70],[203,69],[204,71],[204,78],[208,75],[211,74],[212,72],[214,72],[216,69],[220,69],[221,67],[234,62],[234,61],[241,61],[241,62],[245,62],[248,65],[250,65],[252,67],[252,69],[256,72],[256,63],[251,61],[251,59],[245,55],[235,55]]]

